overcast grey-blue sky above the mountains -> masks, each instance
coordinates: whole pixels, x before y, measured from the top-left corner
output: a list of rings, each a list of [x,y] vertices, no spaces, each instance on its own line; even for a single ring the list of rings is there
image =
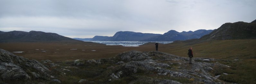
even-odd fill
[[[256,0],[0,0],[0,31],[43,31],[69,38],[118,31],[163,34],[217,29],[256,19]]]

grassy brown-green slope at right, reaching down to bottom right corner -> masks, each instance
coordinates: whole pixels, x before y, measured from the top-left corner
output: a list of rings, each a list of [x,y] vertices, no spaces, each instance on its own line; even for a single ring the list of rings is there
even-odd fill
[[[256,83],[256,40],[222,40],[186,45],[187,43],[167,44],[163,52],[179,56],[187,56],[187,50],[193,47],[194,57],[206,57],[228,60],[220,62],[231,66],[220,79],[242,84]],[[234,59],[239,59],[234,61]]]

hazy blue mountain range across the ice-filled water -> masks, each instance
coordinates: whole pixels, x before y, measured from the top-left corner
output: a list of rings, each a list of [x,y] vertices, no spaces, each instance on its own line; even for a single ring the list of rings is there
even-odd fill
[[[200,29],[196,31],[183,31],[177,32],[170,30],[162,34],[152,33],[140,33],[132,31],[119,31],[114,34],[113,37],[107,36],[95,36],[90,41],[175,41],[175,40],[187,40],[193,38],[200,38],[206,34],[211,33],[213,30]],[[77,40],[86,41],[88,38],[74,38]]]

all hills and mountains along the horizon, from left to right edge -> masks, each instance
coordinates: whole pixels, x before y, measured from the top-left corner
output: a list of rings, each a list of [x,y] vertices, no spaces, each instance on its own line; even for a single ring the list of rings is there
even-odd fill
[[[170,30],[162,34],[140,33],[132,31],[119,31],[113,37],[95,36],[87,38],[91,41],[176,41],[198,39],[205,40],[233,40],[233,39],[256,39],[256,20],[251,23],[234,22],[225,23],[215,30],[196,30],[177,32]],[[76,40],[78,39],[78,40]],[[0,42],[49,42],[49,41],[80,41],[79,38],[68,38],[56,33],[42,31],[0,31]]]

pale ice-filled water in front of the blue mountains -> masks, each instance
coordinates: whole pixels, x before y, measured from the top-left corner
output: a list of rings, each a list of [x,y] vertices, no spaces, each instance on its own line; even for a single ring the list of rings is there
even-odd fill
[[[122,45],[122,46],[140,46],[145,43],[145,41],[90,41],[90,42],[95,42],[95,43],[101,43],[101,44],[106,44],[106,45]],[[156,43],[156,42],[154,42]],[[157,42],[161,44],[169,44],[172,42]]]

